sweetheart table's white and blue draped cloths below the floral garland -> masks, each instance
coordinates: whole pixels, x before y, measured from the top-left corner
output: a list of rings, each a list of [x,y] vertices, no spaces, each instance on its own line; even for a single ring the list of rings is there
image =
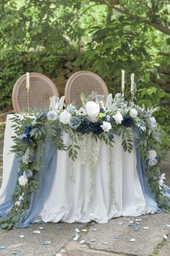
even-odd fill
[[[14,144],[12,116],[7,116],[4,135],[0,216],[5,216],[12,208],[19,168],[16,153],[9,153]],[[133,150],[128,153],[122,148],[122,137],[115,136],[111,147],[86,135],[86,141],[80,142],[76,161],[71,161],[67,151],[55,148],[48,137],[45,140],[41,159],[45,167],[36,177],[40,187],[31,195],[30,207],[22,216],[20,227],[37,221],[107,223],[114,217],[140,216],[160,210],[144,175],[138,139],[134,138]],[[70,143],[65,132],[63,141],[66,145]],[[97,160],[95,153],[99,155]],[[95,168],[91,168],[93,165]]]

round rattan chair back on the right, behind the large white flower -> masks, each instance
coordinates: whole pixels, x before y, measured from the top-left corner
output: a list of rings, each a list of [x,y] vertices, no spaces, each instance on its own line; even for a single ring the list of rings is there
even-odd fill
[[[88,96],[91,92],[104,95],[104,101],[109,94],[107,85],[99,75],[90,71],[79,71],[68,79],[65,88],[66,105],[75,102],[77,106],[82,106],[81,93]]]

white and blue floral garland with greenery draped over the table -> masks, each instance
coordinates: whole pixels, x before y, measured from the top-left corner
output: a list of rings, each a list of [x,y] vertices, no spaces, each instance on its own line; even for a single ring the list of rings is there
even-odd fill
[[[6,218],[0,219],[2,229],[12,229],[19,226],[19,220],[30,204],[30,195],[39,184],[35,176],[42,168],[41,158],[45,148],[45,138],[49,138],[56,148],[68,150],[71,161],[75,161],[80,150],[79,140],[82,135],[91,135],[94,140],[104,140],[109,146],[114,146],[114,136],[122,136],[122,147],[130,153],[133,150],[133,138],[138,137],[133,127],[141,131],[138,144],[140,155],[146,163],[146,177],[156,202],[162,210],[170,209],[169,197],[165,196],[163,184],[164,174],[160,175],[161,142],[159,130],[153,111],[143,106],[126,102],[118,93],[110,98],[106,106],[102,102],[94,102],[95,94],[89,98],[81,95],[83,107],[76,108],[72,104],[64,110],[48,113],[20,114],[13,118],[14,146],[12,152],[17,153],[20,168],[17,170],[18,181],[13,195],[14,205]],[[71,145],[65,145],[62,132],[69,133]]]

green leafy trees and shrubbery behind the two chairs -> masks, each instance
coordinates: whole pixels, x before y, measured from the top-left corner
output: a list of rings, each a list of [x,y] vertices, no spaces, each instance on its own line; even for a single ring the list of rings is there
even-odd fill
[[[1,109],[27,71],[48,75],[62,95],[73,72],[91,70],[115,94],[125,69],[125,97],[135,73],[136,101],[160,106],[156,119],[170,148],[169,12],[166,0],[1,0]]]

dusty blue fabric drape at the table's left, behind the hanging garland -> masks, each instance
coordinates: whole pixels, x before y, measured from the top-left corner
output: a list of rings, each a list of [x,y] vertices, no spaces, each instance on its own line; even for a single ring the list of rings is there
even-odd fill
[[[37,180],[40,187],[35,191],[35,193],[32,193],[30,197],[30,206],[20,219],[19,227],[24,228],[32,225],[35,222],[35,217],[40,212],[48,196],[48,193],[50,192],[50,188],[53,183],[53,176],[56,169],[56,161],[57,148],[55,148],[51,142],[45,142],[45,153],[42,157],[42,163],[44,163],[45,167],[42,168],[35,177],[35,180]],[[14,188],[17,182],[18,167],[19,163],[17,158],[15,158],[12,166],[13,171],[7,186],[9,189],[6,192],[6,198],[4,202],[0,205],[0,217],[3,218],[5,218],[6,213],[9,212],[13,205],[12,194],[14,193]]]

